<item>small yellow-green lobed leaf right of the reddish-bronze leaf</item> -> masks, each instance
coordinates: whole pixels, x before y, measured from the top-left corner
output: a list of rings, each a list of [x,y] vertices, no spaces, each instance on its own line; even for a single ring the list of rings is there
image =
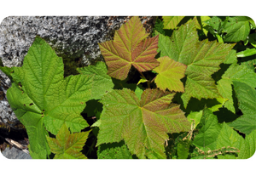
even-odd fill
[[[183,82],[180,79],[185,77],[184,73],[187,65],[176,62],[167,56],[160,57],[157,60],[160,62],[160,65],[153,70],[158,73],[154,79],[157,88],[160,88],[164,92],[166,88],[170,91],[184,92]]]

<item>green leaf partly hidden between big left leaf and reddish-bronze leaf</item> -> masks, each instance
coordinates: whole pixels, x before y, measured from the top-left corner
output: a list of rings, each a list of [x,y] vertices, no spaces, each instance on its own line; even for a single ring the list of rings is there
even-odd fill
[[[77,70],[82,75],[92,77],[91,95],[94,99],[101,99],[103,94],[113,89],[113,82],[107,75],[108,69],[105,63],[97,62],[96,65],[89,65]]]

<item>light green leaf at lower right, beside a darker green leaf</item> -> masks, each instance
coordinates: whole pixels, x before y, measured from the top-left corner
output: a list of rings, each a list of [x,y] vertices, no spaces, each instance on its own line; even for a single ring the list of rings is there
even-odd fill
[[[245,140],[241,137],[241,135],[236,133],[235,130],[229,127],[225,122],[218,135],[216,146],[217,148],[234,147],[238,149],[240,151],[238,154],[238,158],[241,158],[241,156],[243,156],[244,153],[246,152]]]

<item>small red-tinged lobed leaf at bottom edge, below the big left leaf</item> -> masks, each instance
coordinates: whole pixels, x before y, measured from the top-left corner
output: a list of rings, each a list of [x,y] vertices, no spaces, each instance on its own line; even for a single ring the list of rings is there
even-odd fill
[[[70,133],[65,124],[55,138],[47,137],[50,151],[55,154],[54,159],[86,159],[82,154],[83,146],[90,131],[82,133]]]

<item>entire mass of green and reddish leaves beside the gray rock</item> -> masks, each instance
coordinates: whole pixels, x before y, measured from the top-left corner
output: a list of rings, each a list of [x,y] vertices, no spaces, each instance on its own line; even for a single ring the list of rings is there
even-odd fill
[[[132,17],[104,62],[63,77],[36,37],[10,77],[9,104],[32,158],[243,159],[256,148],[255,31],[248,17]],[[254,56],[254,58],[252,58]]]

